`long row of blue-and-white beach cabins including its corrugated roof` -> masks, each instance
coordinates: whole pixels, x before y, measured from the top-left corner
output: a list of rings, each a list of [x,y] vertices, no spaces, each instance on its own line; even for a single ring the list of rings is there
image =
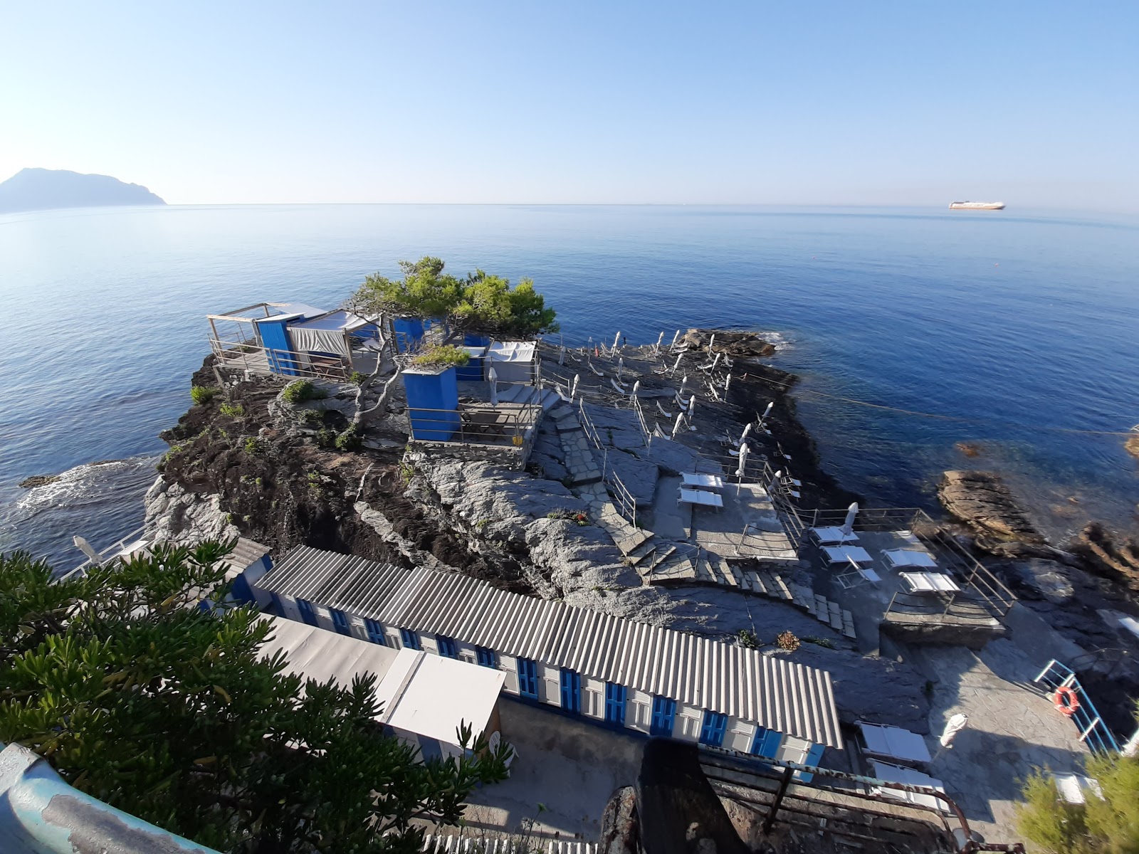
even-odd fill
[[[501,671],[584,720],[808,765],[842,747],[830,675],[781,656],[309,547],[255,588],[290,619]]]

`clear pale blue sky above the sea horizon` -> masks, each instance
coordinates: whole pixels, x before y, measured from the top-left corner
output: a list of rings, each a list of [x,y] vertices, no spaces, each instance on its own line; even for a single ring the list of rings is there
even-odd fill
[[[1136,2],[0,6],[0,180],[1139,208]]]

